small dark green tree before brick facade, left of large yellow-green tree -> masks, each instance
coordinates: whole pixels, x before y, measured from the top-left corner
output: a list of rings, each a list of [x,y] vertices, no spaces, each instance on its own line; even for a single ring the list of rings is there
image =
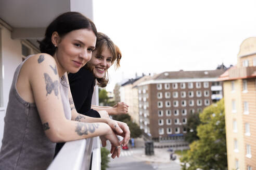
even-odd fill
[[[193,141],[198,140],[197,126],[200,124],[199,114],[191,114],[188,117],[187,124],[184,127],[187,129],[185,140],[191,144]]]

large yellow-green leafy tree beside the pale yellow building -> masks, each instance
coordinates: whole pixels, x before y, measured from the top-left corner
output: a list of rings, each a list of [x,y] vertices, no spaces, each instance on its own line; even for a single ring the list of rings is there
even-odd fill
[[[199,117],[201,121],[197,127],[199,140],[190,145],[190,150],[181,159],[182,162],[189,164],[189,167],[183,166],[183,169],[226,169],[224,100],[205,108]]]

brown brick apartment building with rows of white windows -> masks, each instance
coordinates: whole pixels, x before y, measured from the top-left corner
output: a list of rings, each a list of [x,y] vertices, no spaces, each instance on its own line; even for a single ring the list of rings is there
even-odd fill
[[[154,141],[187,145],[190,114],[222,98],[224,69],[164,72],[138,86],[139,125]]]

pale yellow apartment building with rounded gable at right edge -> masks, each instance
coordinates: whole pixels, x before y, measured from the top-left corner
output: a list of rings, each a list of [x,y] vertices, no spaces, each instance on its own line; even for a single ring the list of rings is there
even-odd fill
[[[256,37],[240,45],[223,81],[228,169],[256,169]]]

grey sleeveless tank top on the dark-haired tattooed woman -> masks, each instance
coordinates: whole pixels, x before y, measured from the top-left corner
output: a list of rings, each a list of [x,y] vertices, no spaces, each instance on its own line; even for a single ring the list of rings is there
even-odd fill
[[[54,157],[56,143],[46,137],[35,104],[24,101],[16,89],[20,68],[25,61],[17,67],[9,93],[0,151],[1,170],[46,169]],[[65,116],[71,120],[69,84],[65,76],[60,78],[59,87]]]

